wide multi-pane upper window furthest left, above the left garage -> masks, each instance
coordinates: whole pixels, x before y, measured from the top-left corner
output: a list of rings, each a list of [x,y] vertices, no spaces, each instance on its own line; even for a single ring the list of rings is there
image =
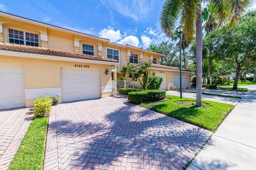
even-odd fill
[[[39,46],[38,35],[29,32],[8,29],[9,43]]]

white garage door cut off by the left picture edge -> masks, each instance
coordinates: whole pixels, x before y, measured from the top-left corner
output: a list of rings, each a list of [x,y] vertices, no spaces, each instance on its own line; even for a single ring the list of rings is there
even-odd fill
[[[25,105],[23,67],[0,66],[0,109]]]

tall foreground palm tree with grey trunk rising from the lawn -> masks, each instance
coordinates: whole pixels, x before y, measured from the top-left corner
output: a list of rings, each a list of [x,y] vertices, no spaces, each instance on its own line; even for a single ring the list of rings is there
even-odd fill
[[[239,19],[251,0],[205,0],[212,6],[219,23],[227,22],[233,25]],[[167,0],[162,8],[161,28],[167,37],[175,30],[176,21],[180,16],[180,24],[188,44],[196,35],[196,106],[202,106],[202,7],[201,0]]]

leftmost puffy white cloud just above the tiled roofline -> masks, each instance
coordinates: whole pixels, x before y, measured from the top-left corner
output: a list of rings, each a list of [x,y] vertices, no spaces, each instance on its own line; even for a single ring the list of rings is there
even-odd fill
[[[120,30],[115,31],[114,28],[108,26],[108,28],[103,28],[99,32],[100,37],[108,38],[113,42],[116,42],[122,38]]]

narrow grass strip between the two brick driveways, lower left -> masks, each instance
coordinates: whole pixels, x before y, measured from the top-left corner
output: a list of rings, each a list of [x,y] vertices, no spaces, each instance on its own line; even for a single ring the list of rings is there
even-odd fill
[[[43,169],[48,117],[35,118],[9,169]]]

